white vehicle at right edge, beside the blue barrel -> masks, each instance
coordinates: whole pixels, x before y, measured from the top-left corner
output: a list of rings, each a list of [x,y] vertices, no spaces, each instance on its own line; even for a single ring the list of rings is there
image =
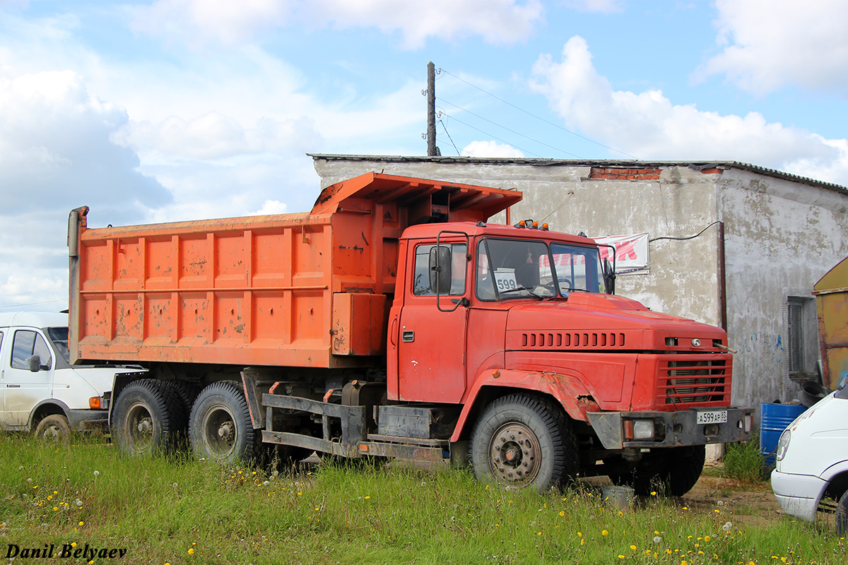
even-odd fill
[[[848,386],[801,414],[778,440],[772,490],[790,516],[812,522],[823,498],[837,502],[836,529],[848,532]]]

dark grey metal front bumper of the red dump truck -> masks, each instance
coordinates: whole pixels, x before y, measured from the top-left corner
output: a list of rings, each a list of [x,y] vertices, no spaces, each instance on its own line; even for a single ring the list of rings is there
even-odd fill
[[[698,413],[726,410],[727,422],[698,424]],[[702,408],[678,412],[590,412],[589,424],[605,449],[625,447],[699,446],[706,443],[732,443],[750,439],[753,408]],[[652,420],[652,440],[633,440],[626,435],[628,422]],[[746,424],[747,423],[747,424]]]

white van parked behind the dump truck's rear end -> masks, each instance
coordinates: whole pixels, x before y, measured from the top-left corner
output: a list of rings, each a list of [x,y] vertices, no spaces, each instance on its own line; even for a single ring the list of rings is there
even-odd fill
[[[0,313],[0,429],[67,440],[105,428],[114,374],[141,368],[71,365],[68,314]]]

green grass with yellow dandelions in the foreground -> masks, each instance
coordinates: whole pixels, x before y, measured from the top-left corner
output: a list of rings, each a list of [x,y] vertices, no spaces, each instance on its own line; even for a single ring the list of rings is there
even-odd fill
[[[745,529],[728,507],[695,512],[659,497],[619,511],[588,485],[538,494],[395,465],[273,475],[191,457],[131,460],[96,440],[48,448],[15,435],[0,436],[0,461],[0,557],[8,544],[58,552],[75,543],[127,550],[95,563],[172,565],[848,559],[845,540],[826,528],[782,518]]]

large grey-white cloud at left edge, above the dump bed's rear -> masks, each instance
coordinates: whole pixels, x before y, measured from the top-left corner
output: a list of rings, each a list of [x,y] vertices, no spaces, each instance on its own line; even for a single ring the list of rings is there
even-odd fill
[[[110,141],[126,122],[123,108],[90,95],[72,71],[0,70],[0,186],[14,186],[0,214],[97,200],[127,219],[170,202],[138,172],[137,154]]]

